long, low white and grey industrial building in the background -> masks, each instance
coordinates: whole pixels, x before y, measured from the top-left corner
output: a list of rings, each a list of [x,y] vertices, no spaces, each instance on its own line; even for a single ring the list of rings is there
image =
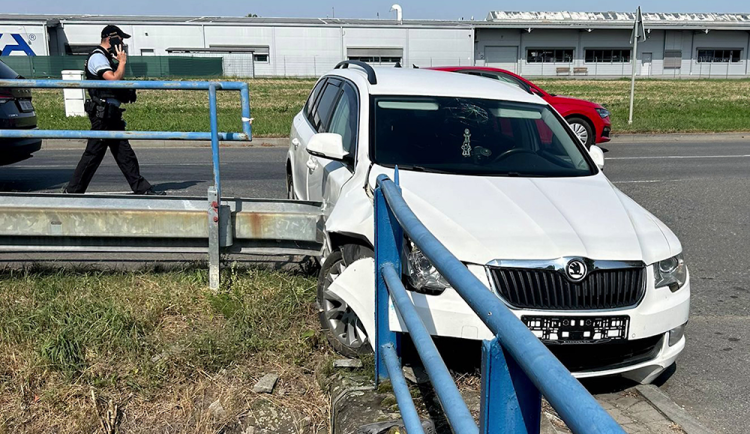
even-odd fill
[[[636,74],[747,77],[750,14],[644,13]],[[221,57],[224,75],[318,76],[344,59],[629,76],[633,13],[490,12],[485,20],[0,15],[2,56],[79,56],[110,23],[131,56]]]

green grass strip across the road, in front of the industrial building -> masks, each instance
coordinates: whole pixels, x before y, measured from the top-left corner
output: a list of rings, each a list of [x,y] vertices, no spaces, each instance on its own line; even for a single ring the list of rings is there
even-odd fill
[[[605,104],[617,133],[750,131],[750,80],[638,80],[635,120],[628,125],[629,80],[536,80],[549,92]],[[286,137],[314,79],[254,79],[253,134]],[[127,107],[131,130],[208,131],[207,92],[141,90]],[[86,118],[66,118],[62,90],[34,91],[43,129],[88,129]],[[240,131],[239,95],[219,92],[219,129]]]

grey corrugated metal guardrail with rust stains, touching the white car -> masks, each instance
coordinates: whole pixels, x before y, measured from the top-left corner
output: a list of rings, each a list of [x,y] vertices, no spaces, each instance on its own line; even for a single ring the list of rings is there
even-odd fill
[[[0,193],[0,252],[200,253],[205,198]],[[320,204],[223,199],[225,253],[314,255]]]

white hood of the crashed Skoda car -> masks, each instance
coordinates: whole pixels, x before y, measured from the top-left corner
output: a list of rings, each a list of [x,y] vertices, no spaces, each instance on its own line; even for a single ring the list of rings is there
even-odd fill
[[[509,178],[401,171],[400,180],[417,217],[464,262],[580,256],[651,264],[682,250],[601,172]]]

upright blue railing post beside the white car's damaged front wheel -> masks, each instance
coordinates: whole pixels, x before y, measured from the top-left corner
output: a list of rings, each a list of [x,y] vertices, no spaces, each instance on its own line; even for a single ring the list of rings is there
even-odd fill
[[[398,335],[388,324],[390,299],[381,268],[393,264],[401,274],[401,247],[403,230],[388,207],[380,187],[375,188],[375,382],[388,378],[388,369],[382,359],[383,345],[393,345],[400,355]]]

